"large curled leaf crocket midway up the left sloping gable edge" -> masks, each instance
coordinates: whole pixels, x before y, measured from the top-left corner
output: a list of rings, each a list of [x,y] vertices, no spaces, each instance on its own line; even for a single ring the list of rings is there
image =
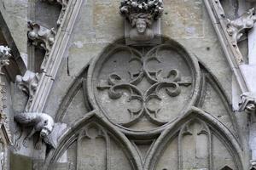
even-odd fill
[[[44,61],[41,65],[41,69],[44,70],[47,60],[49,58],[49,52],[55,42],[55,30],[44,28],[36,23],[28,21],[29,31],[27,32],[28,39],[33,45],[44,48],[45,56]]]

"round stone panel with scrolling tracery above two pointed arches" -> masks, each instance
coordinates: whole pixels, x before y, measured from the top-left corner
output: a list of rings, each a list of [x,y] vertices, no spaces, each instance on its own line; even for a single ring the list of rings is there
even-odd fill
[[[105,52],[90,66],[88,94],[115,125],[149,132],[195,104],[199,66],[177,42],[151,49],[117,45]]]

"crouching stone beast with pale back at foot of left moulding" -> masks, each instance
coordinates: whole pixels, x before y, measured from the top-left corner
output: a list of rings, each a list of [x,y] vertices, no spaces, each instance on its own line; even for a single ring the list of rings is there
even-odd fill
[[[15,115],[15,122],[18,122],[22,127],[32,127],[32,131],[26,135],[23,144],[26,144],[27,139],[31,139],[38,132],[39,137],[35,145],[37,150],[41,149],[43,140],[46,144],[55,147],[48,138],[55,126],[55,122],[51,116],[45,113],[25,112]]]

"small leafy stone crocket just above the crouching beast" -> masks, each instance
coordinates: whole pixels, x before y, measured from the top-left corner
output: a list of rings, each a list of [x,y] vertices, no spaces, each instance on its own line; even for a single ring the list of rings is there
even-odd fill
[[[33,96],[38,88],[38,82],[39,74],[32,71],[26,71],[23,77],[20,75],[16,76],[17,87],[28,95],[28,105],[32,102]]]

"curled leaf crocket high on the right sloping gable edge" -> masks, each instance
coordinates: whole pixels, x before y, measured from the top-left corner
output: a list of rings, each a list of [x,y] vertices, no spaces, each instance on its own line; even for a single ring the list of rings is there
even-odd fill
[[[241,37],[244,35],[244,31],[247,29],[251,29],[254,26],[256,21],[255,9],[249,9],[245,14],[242,14],[236,20],[227,20],[227,32],[231,37],[231,42],[240,58],[237,58],[237,62],[240,64],[244,59],[242,58],[241,52],[237,46],[237,42],[241,40]]]

